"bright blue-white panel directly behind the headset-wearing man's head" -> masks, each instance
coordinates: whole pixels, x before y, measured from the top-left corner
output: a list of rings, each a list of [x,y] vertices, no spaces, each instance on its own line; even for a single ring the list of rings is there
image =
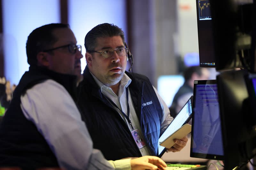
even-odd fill
[[[68,22],[76,36],[77,44],[82,45],[83,55],[85,54],[84,37],[98,24],[115,24],[126,34],[125,0],[69,0],[68,13]],[[83,57],[82,72],[85,66],[85,57]]]

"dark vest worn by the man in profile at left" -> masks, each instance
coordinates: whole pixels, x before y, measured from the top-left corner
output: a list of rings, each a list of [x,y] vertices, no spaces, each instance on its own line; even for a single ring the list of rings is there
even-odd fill
[[[59,166],[44,137],[34,123],[23,115],[20,96],[37,83],[53,79],[74,97],[75,78],[46,69],[29,68],[24,73],[0,125],[0,166],[19,166],[22,169]]]

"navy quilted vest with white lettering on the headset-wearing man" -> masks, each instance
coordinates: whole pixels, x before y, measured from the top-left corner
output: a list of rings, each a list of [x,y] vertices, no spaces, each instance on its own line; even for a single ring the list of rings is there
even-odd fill
[[[143,136],[152,155],[157,155],[163,116],[161,105],[147,77],[134,74],[134,78],[128,72],[126,74],[132,79],[129,89]],[[140,150],[128,126],[116,109],[102,96],[87,66],[84,70],[84,80],[78,89],[77,104],[92,137],[93,147],[99,149],[108,160],[140,157]]]

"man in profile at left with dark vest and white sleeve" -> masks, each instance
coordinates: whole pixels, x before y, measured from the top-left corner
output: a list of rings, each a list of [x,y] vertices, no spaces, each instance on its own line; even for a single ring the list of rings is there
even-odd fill
[[[0,167],[38,169],[165,169],[163,160],[107,161],[93,149],[76,107],[75,65],[83,55],[66,24],[48,24],[28,36],[29,70],[20,79],[0,125]]]

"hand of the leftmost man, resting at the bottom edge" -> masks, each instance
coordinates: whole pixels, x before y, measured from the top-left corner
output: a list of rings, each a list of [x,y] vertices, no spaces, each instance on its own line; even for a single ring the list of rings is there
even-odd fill
[[[167,166],[166,163],[162,159],[156,156],[143,156],[140,158],[131,159],[132,170],[144,170],[144,169],[166,170],[165,168],[166,166]]]

